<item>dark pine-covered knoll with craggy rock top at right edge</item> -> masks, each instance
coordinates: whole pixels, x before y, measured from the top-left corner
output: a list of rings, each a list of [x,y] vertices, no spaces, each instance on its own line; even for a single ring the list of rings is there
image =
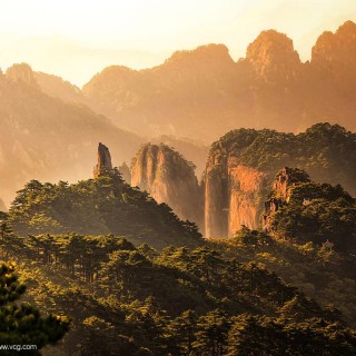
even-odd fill
[[[284,168],[265,204],[263,228],[296,244],[313,241],[324,250],[356,247],[356,199],[342,186],[312,181],[306,171]]]

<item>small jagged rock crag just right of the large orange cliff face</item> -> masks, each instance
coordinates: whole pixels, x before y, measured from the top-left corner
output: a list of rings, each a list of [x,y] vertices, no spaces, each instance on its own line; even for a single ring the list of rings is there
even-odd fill
[[[284,167],[276,176],[271,198],[265,202],[265,214],[263,216],[263,229],[273,234],[271,217],[284,205],[288,204],[290,199],[291,188],[300,182],[310,181],[306,171],[298,168]],[[307,200],[305,200],[307,204]]]

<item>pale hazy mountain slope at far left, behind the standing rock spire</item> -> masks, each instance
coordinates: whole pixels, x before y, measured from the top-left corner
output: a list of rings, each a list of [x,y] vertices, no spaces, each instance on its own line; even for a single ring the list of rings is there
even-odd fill
[[[99,141],[116,162],[130,160],[142,140],[78,103],[46,95],[27,65],[0,76],[0,196],[9,202],[30,179],[91,176]]]

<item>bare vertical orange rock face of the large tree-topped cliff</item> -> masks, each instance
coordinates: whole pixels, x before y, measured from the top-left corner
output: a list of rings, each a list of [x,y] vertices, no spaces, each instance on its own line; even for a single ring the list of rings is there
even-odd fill
[[[266,174],[236,157],[210,154],[205,177],[206,237],[231,237],[241,225],[257,228]]]

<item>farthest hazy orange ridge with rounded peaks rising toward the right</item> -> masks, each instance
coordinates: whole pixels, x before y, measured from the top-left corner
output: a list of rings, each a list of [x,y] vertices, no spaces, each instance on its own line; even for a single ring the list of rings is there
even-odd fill
[[[261,32],[234,62],[222,44],[179,51],[161,66],[112,66],[83,95],[119,127],[211,141],[246,127],[300,131],[317,121],[356,129],[356,24],[323,33],[303,63],[287,36]]]

